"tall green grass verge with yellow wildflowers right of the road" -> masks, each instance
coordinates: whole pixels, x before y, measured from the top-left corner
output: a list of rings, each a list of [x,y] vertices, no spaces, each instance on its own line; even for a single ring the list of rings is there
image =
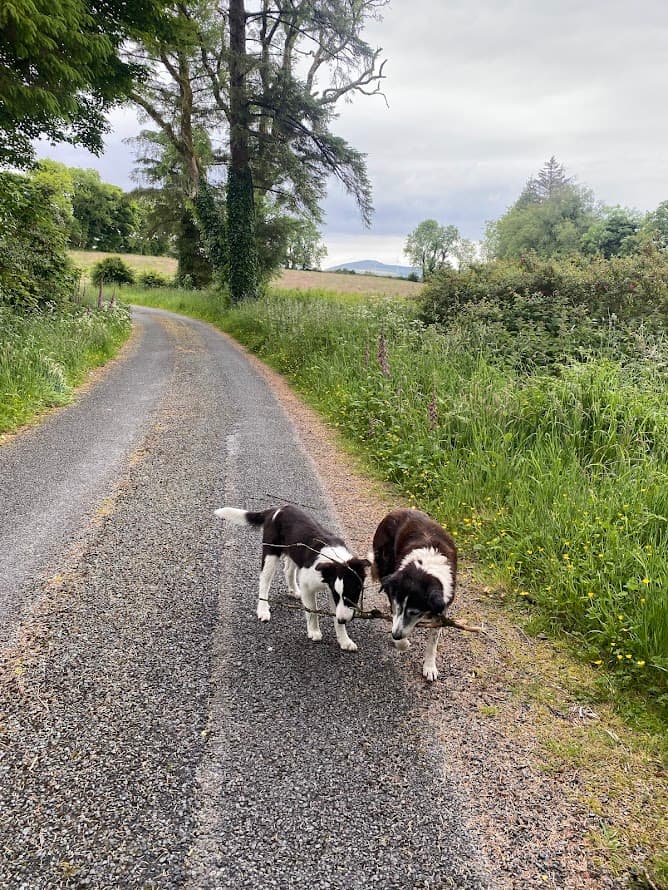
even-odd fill
[[[274,295],[227,330],[598,665],[666,702],[668,381],[638,361],[525,375],[397,302]]]

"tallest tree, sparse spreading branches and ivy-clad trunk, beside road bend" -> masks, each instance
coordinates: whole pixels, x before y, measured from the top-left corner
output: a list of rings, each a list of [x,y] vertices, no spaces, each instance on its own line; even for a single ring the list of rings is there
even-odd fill
[[[183,120],[206,120],[223,142],[213,162],[227,168],[233,299],[257,291],[251,233],[258,197],[317,220],[333,175],[369,220],[364,156],[330,125],[340,99],[380,91],[380,50],[361,32],[386,3],[262,0],[251,12],[241,0],[186,0],[178,39],[144,43],[139,60],[151,66],[151,76],[136,101],[193,171],[193,197],[206,165],[183,138]]]

